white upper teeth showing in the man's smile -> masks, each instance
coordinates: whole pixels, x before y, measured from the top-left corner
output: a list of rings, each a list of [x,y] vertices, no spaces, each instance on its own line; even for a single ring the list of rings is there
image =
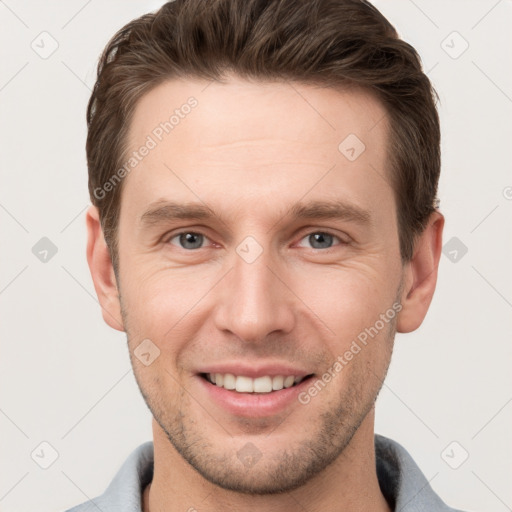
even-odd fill
[[[245,377],[243,375],[233,375],[232,373],[207,373],[206,377],[212,384],[225,389],[238,391],[239,393],[270,393],[279,391],[283,388],[290,388],[298,384],[304,377],[295,377],[293,375],[276,375],[270,377]]]

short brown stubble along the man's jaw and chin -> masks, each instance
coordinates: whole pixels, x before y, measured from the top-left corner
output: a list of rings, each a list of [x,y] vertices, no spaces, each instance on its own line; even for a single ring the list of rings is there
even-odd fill
[[[398,298],[400,294],[401,289]],[[130,340],[133,338],[128,327],[128,314],[123,306],[121,311],[130,347]],[[163,391],[159,377],[149,381],[141,378],[139,371],[135,370],[137,365],[133,360],[132,351],[130,358],[141,394],[156,422],[165,432],[175,451],[205,480],[220,488],[247,495],[282,494],[297,489],[318,476],[337,460],[349,445],[373,408],[382,388],[391,359],[395,326],[396,317],[390,321],[384,338],[379,341],[389,347],[381,377],[371,369],[371,373],[356,373],[356,377],[359,375],[359,378],[345,387],[345,392],[337,403],[333,404],[330,410],[322,411],[318,415],[318,426],[313,429],[312,435],[292,446],[272,451],[269,448],[265,449],[264,445],[268,444],[268,439],[273,435],[270,432],[260,437],[260,450],[258,439],[255,438],[251,445],[261,453],[261,456],[252,467],[246,467],[241,462],[238,456],[240,448],[237,450],[231,447],[226,449],[226,445],[214,446],[209,440],[204,422],[200,423],[186,415],[187,406],[190,407],[194,400],[183,387],[177,388],[177,398],[173,404],[165,404],[165,400],[158,396],[158,392]],[[368,390],[368,382],[374,383],[371,390]],[[167,396],[170,394],[164,395]],[[200,407],[198,403],[195,406]],[[310,417],[307,411],[305,417]],[[247,420],[245,423],[250,426]],[[286,423],[286,419],[283,423]],[[278,432],[279,426],[275,427],[274,432]],[[301,425],[298,424],[294,428],[300,430]],[[227,430],[225,433],[226,444],[234,446],[236,443],[233,436]],[[248,438],[245,445],[249,442]],[[241,443],[241,447],[245,445]]]

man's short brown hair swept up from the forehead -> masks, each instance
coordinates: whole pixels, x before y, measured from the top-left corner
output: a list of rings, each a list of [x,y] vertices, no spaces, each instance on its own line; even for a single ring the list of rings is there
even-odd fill
[[[89,193],[114,269],[123,182],[102,197],[97,190],[124,161],[137,101],[165,80],[227,71],[376,95],[389,117],[387,174],[409,261],[435,210],[441,165],[438,96],[414,48],[366,0],[174,0],[110,40],[87,108]]]

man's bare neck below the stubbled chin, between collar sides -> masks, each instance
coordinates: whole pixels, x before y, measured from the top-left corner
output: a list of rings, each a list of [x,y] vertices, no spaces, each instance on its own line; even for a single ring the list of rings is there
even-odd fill
[[[321,473],[294,491],[254,496],[228,491],[199,475],[174,449],[153,420],[153,481],[143,494],[143,511],[315,511],[391,512],[377,479],[374,409],[341,455]]]

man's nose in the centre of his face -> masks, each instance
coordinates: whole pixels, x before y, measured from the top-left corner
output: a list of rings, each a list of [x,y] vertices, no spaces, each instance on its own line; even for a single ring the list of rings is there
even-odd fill
[[[216,287],[216,327],[247,343],[291,332],[296,309],[286,276],[268,250],[252,262],[240,254],[235,252],[231,270]]]

